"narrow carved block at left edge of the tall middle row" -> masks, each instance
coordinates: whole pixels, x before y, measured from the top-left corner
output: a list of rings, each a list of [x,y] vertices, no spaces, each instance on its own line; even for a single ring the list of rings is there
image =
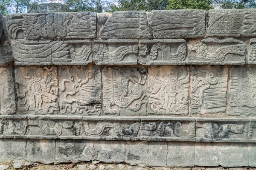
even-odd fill
[[[14,79],[12,68],[0,67],[0,114],[16,112]]]

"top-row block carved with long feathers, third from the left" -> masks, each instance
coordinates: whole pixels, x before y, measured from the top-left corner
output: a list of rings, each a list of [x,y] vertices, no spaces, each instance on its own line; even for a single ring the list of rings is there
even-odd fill
[[[204,10],[152,11],[150,26],[158,39],[204,37]]]

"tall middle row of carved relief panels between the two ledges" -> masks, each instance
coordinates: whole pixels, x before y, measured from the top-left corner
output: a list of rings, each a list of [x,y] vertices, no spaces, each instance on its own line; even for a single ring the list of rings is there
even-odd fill
[[[255,71],[253,65],[2,67],[0,113],[250,117]]]

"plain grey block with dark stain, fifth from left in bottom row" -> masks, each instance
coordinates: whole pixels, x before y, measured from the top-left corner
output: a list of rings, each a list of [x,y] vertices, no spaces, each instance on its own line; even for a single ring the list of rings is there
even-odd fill
[[[148,142],[127,142],[125,162],[148,164]]]

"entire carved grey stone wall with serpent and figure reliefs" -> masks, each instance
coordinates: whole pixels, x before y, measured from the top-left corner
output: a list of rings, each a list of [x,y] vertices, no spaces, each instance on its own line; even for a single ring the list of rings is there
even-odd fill
[[[255,9],[0,19],[1,161],[256,166]]]

